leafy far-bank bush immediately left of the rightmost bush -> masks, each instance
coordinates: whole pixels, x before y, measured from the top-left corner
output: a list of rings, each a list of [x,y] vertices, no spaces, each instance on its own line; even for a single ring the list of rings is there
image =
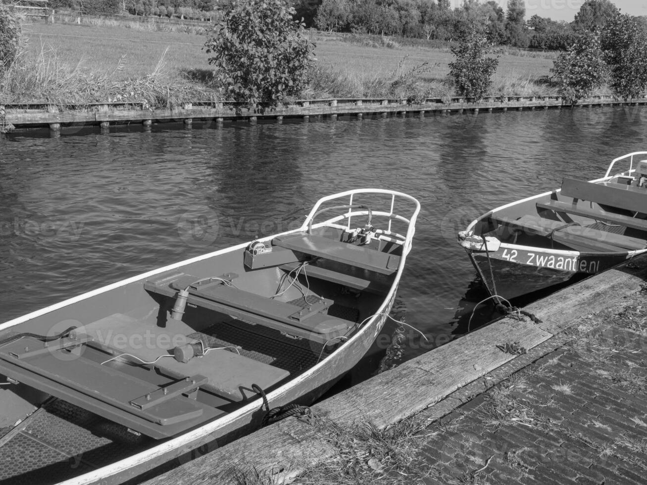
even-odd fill
[[[602,85],[606,74],[600,37],[582,32],[575,43],[553,61],[551,73],[569,103],[589,96],[593,89]]]

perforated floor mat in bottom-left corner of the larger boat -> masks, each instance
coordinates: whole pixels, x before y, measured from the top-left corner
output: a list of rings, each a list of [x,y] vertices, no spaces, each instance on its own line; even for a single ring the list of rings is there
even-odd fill
[[[58,483],[137,453],[149,443],[61,400],[43,406],[20,426],[0,447],[3,485]]]

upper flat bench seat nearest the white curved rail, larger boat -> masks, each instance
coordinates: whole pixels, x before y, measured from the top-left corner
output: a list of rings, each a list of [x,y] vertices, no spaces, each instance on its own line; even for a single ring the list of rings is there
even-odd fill
[[[400,264],[400,257],[395,254],[312,234],[295,233],[278,236],[272,239],[272,244],[386,275],[393,274]]]

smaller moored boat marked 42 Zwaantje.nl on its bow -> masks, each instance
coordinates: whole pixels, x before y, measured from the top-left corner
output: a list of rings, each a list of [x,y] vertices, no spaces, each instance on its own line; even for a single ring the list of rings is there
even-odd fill
[[[459,232],[490,294],[510,299],[646,252],[645,155],[615,158],[597,180],[565,177],[560,189],[491,210]],[[628,171],[614,173],[621,160]]]

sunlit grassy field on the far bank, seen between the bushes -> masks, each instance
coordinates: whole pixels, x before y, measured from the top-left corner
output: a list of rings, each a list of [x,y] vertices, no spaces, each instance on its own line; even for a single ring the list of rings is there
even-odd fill
[[[210,82],[204,36],[120,25],[34,23],[0,102],[146,101],[169,105],[221,94]],[[316,67],[303,98],[455,95],[447,48],[378,45],[379,39],[313,36]],[[389,47],[386,47],[389,45]],[[501,50],[492,96],[556,94],[542,78],[551,53]]]

